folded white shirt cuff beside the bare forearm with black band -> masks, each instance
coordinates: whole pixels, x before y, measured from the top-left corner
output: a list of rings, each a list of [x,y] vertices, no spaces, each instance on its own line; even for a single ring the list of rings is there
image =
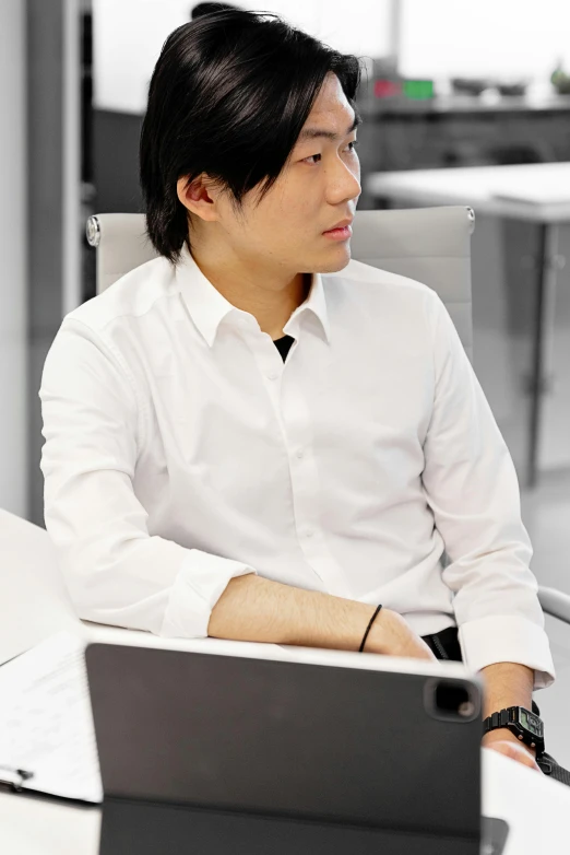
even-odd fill
[[[257,571],[199,549],[188,550],[170,588],[158,635],[171,639],[206,639],[210,616],[217,600],[235,576]]]

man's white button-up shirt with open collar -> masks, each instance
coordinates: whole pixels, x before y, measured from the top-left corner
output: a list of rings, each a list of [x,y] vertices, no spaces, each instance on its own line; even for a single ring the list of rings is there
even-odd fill
[[[285,362],[185,247],[69,313],[39,398],[45,522],[78,614],[204,637],[258,573],[555,669],[516,475],[435,291],[316,273]],[[363,630],[366,628],[363,628]]]

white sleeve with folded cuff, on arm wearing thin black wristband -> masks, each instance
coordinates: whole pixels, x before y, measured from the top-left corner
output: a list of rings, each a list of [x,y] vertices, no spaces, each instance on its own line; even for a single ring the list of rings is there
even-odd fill
[[[151,536],[133,489],[144,412],[124,360],[64,318],[44,363],[44,515],[78,616],[166,637],[205,637],[239,561]]]

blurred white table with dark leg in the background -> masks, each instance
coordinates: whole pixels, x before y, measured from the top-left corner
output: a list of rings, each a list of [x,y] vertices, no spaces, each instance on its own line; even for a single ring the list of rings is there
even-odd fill
[[[570,163],[372,173],[366,190],[384,207],[466,204],[475,213],[526,220],[539,227],[527,459],[527,484],[534,487],[542,399],[551,370],[557,271],[566,262],[558,238],[560,224],[570,222]]]

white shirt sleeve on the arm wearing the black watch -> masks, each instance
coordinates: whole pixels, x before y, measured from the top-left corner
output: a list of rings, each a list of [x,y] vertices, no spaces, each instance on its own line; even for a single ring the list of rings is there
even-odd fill
[[[449,313],[431,292],[435,400],[423,482],[448,557],[442,572],[470,668],[511,661],[534,669],[534,689],[555,668],[533,554],[521,519],[516,472]]]

